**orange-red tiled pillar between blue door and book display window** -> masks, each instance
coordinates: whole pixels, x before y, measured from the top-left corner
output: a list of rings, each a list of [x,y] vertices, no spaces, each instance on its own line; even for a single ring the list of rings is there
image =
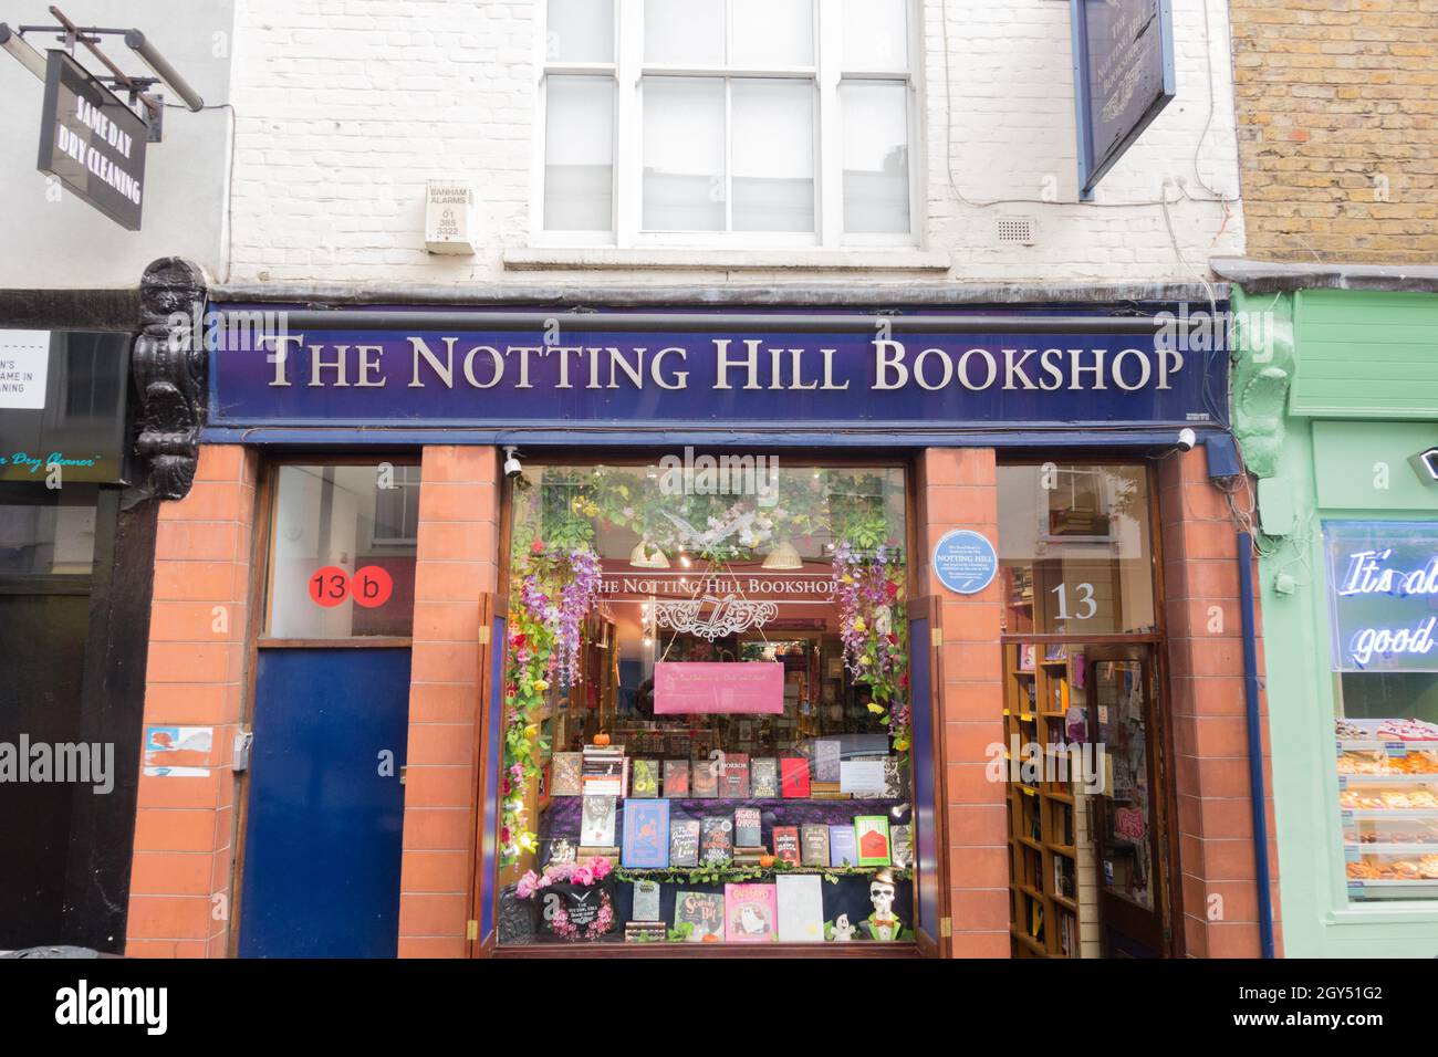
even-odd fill
[[[499,585],[493,447],[426,447],[414,578],[400,956],[460,958],[473,876],[479,600]]]

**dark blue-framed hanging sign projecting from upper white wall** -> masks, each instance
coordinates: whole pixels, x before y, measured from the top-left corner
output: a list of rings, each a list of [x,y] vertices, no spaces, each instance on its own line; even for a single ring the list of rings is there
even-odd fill
[[[1178,92],[1171,0],[1070,0],[1084,201]]]

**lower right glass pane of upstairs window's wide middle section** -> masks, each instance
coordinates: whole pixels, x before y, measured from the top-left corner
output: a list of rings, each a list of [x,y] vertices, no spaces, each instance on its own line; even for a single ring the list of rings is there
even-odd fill
[[[814,88],[807,81],[736,81],[733,227],[814,230]]]

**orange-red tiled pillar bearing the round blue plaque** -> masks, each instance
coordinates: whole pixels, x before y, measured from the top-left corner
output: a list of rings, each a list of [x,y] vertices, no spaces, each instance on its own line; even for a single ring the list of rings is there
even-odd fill
[[[975,529],[998,546],[998,477],[992,449],[928,449],[919,459],[920,594],[942,600],[940,732],[949,825],[948,906],[956,958],[1007,958],[1008,833],[1002,782],[988,781],[985,749],[1004,741],[1001,594],[995,580],[976,595],[939,584],[929,555],[955,528]],[[919,649],[916,643],[913,649]]]

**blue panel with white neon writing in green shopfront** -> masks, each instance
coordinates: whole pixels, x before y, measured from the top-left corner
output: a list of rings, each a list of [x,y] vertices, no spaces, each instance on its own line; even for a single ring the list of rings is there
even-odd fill
[[[1438,522],[1323,523],[1339,672],[1438,672]]]

